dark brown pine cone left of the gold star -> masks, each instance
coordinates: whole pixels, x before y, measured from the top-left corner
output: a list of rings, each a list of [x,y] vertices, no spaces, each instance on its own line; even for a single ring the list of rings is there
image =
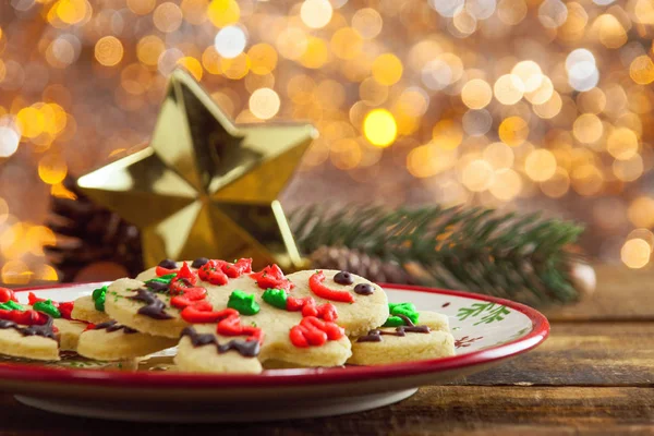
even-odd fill
[[[47,254],[59,269],[60,279],[110,279],[128,274],[134,277],[142,271],[138,229],[117,214],[95,205],[77,190],[72,179],[66,178],[63,185],[70,193],[52,196],[47,221],[57,234],[57,245],[48,247]]]

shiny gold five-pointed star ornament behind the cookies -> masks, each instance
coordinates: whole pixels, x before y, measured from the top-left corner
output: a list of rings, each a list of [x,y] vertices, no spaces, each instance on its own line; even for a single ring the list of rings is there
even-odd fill
[[[298,269],[277,199],[316,136],[308,124],[234,125],[187,73],[172,73],[149,146],[77,180],[137,226],[144,262],[252,257]]]

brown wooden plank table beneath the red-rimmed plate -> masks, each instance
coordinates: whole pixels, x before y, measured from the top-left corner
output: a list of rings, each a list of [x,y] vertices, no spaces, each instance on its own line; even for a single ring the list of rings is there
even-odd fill
[[[395,405],[353,415],[197,427],[60,416],[0,395],[12,434],[654,434],[654,272],[598,267],[586,301],[550,311],[535,351],[448,386],[424,387]]]

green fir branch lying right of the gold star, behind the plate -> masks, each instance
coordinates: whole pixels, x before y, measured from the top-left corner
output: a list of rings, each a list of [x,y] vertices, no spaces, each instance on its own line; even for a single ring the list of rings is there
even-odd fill
[[[355,250],[399,265],[424,284],[536,305],[578,296],[567,268],[574,255],[565,250],[583,231],[574,222],[440,206],[308,206],[291,213],[290,221],[305,253],[322,246]]]

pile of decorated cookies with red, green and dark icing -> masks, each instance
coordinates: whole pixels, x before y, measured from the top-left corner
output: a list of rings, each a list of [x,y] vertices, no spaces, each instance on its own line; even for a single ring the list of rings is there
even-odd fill
[[[0,354],[137,360],[177,346],[175,370],[378,365],[453,355],[447,316],[389,304],[363,277],[338,270],[286,276],[251,259],[162,261],[71,303],[29,305],[0,292]]]

